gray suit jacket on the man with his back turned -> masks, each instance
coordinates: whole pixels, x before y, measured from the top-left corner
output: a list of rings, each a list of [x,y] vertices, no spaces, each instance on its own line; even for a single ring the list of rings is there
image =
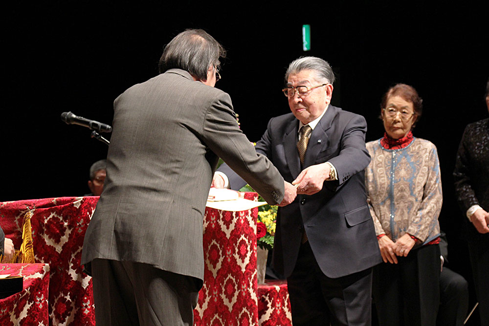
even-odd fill
[[[81,263],[143,262],[202,280],[202,216],[218,156],[266,200],[282,200],[284,179],[239,129],[228,94],[180,69],[127,89],[114,102],[107,178]]]

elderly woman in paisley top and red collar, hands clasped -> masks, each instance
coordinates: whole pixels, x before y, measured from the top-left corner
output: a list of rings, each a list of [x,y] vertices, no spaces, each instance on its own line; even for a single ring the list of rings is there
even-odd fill
[[[440,166],[435,145],[413,137],[422,99],[389,88],[381,103],[384,137],[367,143],[367,200],[383,263],[374,268],[380,325],[435,325],[439,305]]]

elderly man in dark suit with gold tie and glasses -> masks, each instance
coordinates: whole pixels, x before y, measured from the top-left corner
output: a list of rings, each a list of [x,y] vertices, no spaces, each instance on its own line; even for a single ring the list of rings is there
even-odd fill
[[[381,258],[365,195],[365,119],[330,105],[334,75],[326,61],[299,58],[285,79],[292,113],[270,120],[256,151],[300,194],[279,209],[273,248],[292,322],[370,325],[372,266]],[[231,169],[220,168],[213,184],[241,187]]]

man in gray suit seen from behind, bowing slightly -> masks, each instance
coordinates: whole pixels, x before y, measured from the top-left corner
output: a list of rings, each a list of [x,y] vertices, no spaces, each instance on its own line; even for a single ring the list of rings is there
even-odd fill
[[[186,30],[165,47],[161,74],[114,102],[104,192],[81,260],[97,325],[192,325],[218,157],[268,202],[295,198],[239,129],[229,95],[214,88],[223,54],[206,32]]]

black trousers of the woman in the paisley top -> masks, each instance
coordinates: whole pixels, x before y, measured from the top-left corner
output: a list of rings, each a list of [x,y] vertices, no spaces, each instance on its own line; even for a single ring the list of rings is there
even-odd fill
[[[440,247],[424,245],[374,267],[372,293],[380,326],[435,326],[440,304]]]

